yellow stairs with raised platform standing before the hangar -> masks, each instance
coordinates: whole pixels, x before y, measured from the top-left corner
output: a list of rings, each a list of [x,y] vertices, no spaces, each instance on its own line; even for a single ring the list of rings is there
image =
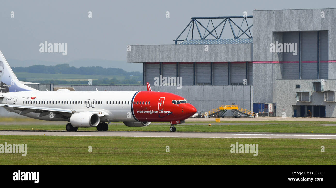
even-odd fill
[[[205,115],[207,115],[208,117],[210,117],[210,116],[218,115],[219,117],[223,117],[226,110],[232,110],[235,117],[243,117],[243,116],[244,117],[255,117],[254,112],[238,107],[237,105],[221,105],[216,109],[212,109],[212,110],[202,113],[202,116],[204,117]]]

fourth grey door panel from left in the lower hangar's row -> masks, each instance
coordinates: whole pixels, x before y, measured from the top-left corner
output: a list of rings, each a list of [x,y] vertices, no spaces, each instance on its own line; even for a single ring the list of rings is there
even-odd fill
[[[196,85],[211,84],[211,63],[196,63]]]

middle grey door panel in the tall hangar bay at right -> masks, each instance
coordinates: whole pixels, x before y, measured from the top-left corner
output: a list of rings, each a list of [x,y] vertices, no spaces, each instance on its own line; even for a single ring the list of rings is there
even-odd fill
[[[301,78],[317,77],[317,53],[318,34],[317,31],[301,32]]]

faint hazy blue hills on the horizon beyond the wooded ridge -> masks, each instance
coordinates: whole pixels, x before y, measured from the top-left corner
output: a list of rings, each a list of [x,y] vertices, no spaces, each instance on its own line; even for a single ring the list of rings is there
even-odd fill
[[[16,59],[7,59],[9,65],[11,67],[28,67],[32,65],[57,65],[61,64],[60,62],[52,62],[52,61],[39,61],[39,60],[16,60]],[[81,66],[101,66],[103,68],[121,68],[125,71],[139,71],[142,72],[142,63],[127,63],[126,61],[110,61],[103,59],[78,59],[74,61],[67,62],[69,66],[74,66],[79,68]]]

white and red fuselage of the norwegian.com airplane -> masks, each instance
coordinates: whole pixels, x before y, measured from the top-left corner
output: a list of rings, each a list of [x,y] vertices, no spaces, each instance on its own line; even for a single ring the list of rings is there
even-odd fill
[[[73,113],[102,113],[100,122],[172,122],[185,120],[196,108],[178,95],[153,91],[22,91],[2,93],[2,104],[70,109]],[[178,101],[178,102],[177,102]],[[4,107],[15,113],[22,109]],[[68,121],[72,113],[55,112],[24,116],[49,121]],[[39,116],[40,115],[40,116]]]

